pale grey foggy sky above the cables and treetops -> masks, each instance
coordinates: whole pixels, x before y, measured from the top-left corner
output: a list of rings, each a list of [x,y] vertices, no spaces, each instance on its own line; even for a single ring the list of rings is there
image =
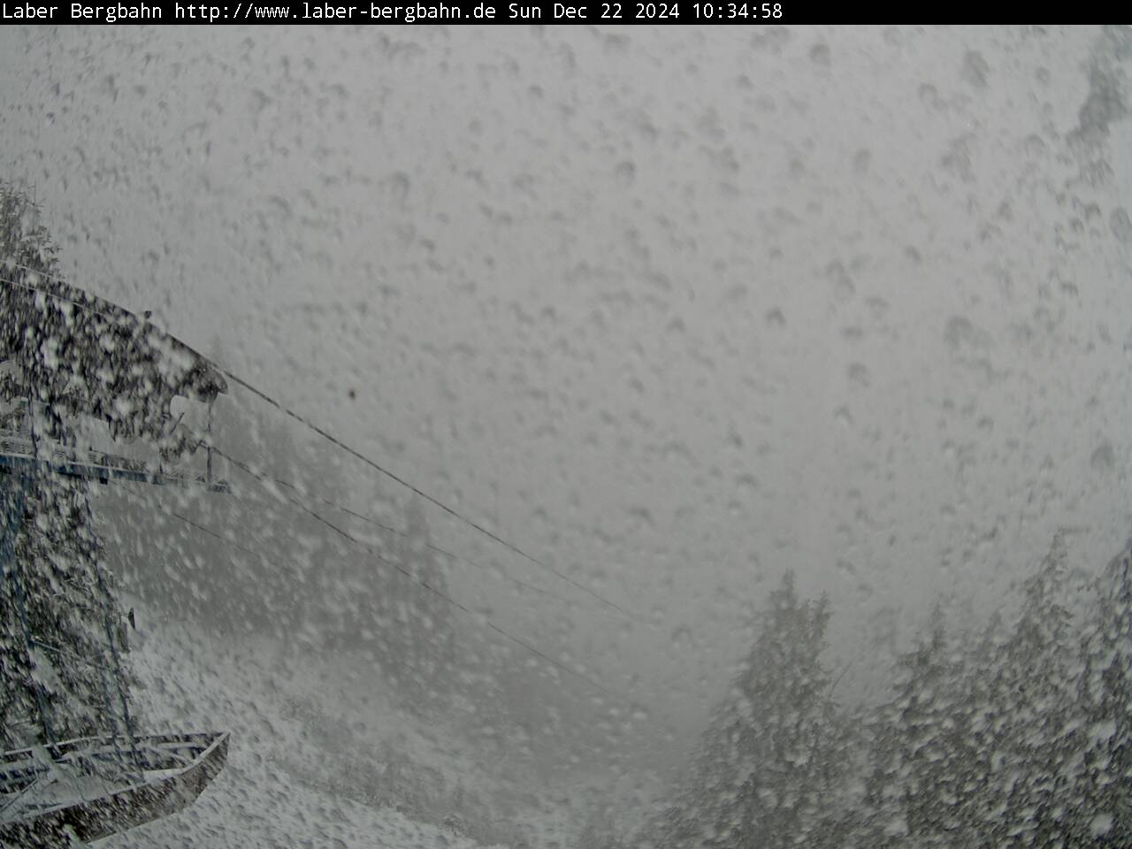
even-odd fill
[[[607,679],[717,686],[794,568],[867,683],[1132,532],[1130,37],[5,27],[0,175],[70,282],[650,618],[571,615]]]

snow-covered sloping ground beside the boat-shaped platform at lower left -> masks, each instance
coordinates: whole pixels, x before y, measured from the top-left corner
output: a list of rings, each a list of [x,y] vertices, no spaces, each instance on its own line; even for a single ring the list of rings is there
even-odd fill
[[[505,753],[489,763],[451,720],[398,710],[362,659],[284,658],[267,638],[140,619],[130,654],[145,730],[226,729],[231,748],[195,804],[101,849],[549,848],[580,829]]]

